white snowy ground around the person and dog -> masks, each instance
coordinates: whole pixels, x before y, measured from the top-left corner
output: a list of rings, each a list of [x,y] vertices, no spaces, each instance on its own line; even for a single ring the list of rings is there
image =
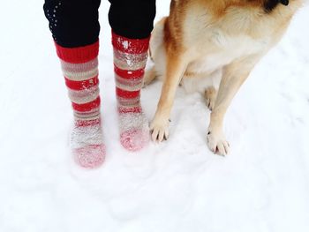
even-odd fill
[[[108,150],[102,168],[72,162],[70,102],[43,1],[0,8],[1,232],[290,232],[309,228],[309,7],[252,72],[225,120],[228,157],[209,152],[209,111],[177,92],[170,140],[119,145],[107,22],[101,7],[101,89]],[[169,1],[158,1],[157,19]],[[142,92],[149,120],[162,84]]]

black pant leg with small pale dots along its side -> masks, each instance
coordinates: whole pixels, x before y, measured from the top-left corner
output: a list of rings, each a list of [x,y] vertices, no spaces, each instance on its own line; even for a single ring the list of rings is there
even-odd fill
[[[97,41],[100,3],[101,0],[45,0],[44,13],[57,44],[76,48]]]

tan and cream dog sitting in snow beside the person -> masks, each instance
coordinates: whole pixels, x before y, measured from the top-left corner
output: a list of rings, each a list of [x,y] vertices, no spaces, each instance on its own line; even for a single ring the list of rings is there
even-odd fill
[[[163,80],[151,137],[169,137],[177,86],[205,94],[212,110],[207,146],[229,153],[222,131],[230,102],[252,68],[280,41],[302,0],[171,0],[170,15],[155,24],[149,53],[154,67],[145,85]]]

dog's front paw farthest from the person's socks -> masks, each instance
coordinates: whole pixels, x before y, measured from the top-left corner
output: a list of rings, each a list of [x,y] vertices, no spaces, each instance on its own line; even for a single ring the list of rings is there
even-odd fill
[[[223,133],[215,133],[212,131],[207,132],[207,146],[216,154],[227,155],[230,150],[230,144],[224,138]]]

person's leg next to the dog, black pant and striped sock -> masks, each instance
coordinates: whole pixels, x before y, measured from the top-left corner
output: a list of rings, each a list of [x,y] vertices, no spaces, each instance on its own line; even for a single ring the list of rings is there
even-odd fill
[[[147,49],[155,19],[155,0],[109,0],[120,142],[138,151],[149,141],[147,118],[140,105]]]

